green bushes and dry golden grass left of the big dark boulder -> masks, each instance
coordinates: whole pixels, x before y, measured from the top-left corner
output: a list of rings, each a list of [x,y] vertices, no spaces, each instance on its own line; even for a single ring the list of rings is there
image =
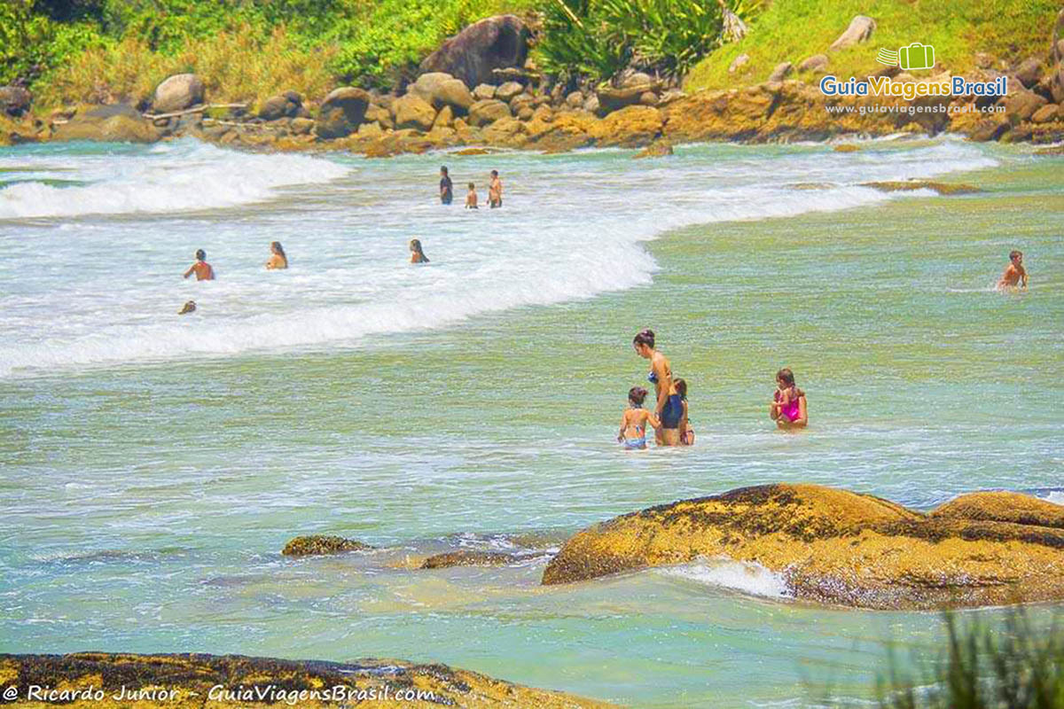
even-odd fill
[[[38,106],[143,101],[168,74],[200,73],[212,99],[295,89],[318,98],[392,86],[466,24],[536,0],[3,0],[0,84]]]

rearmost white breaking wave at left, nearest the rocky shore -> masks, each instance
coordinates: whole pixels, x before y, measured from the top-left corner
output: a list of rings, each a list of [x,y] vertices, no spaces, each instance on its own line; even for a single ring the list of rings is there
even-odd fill
[[[35,162],[41,178],[49,176],[49,165],[56,163],[37,158],[28,166]],[[140,155],[79,157],[74,172],[70,165],[65,163],[59,176],[92,184],[22,182],[0,189],[0,219],[232,207],[269,200],[279,187],[319,184],[348,172],[342,165],[306,155],[238,153],[194,141],[155,146]]]

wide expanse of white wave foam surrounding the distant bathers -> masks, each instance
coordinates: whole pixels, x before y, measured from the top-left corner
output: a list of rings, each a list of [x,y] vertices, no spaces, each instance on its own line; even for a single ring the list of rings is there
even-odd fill
[[[907,199],[860,183],[994,164],[950,141],[783,155],[694,147],[667,166],[634,163],[627,152],[500,155],[476,172],[456,166],[466,173],[454,170],[456,186],[491,167],[506,181],[504,209],[468,213],[434,203],[439,156],[336,162],[196,144],[17,155],[0,152],[0,167],[29,164],[47,176],[62,159],[74,168],[64,176],[93,184],[0,189],[0,277],[13,284],[0,309],[0,376],[364,347],[390,333],[648,284],[656,265],[642,242],[671,229]],[[788,186],[800,182],[831,186]],[[423,242],[428,266],[406,263],[412,237]],[[263,271],[273,239],[288,251],[287,272]],[[206,249],[216,282],[180,278],[197,248]],[[179,318],[186,300],[197,311]]]

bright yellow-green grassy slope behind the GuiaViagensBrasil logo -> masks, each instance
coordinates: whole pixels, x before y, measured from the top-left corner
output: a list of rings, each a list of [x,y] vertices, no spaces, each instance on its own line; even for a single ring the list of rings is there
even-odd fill
[[[918,41],[935,49],[936,61],[955,72],[970,70],[976,52],[1020,61],[1049,51],[1059,0],[774,0],[750,26],[747,36],[726,45],[691,72],[686,87],[726,88],[765,81],[781,62],[796,67],[828,53],[854,15],[876,20],[871,39],[829,53],[838,77],[863,75],[882,67],[880,47],[897,49]],[[739,54],[749,62],[736,73],[728,67]]]

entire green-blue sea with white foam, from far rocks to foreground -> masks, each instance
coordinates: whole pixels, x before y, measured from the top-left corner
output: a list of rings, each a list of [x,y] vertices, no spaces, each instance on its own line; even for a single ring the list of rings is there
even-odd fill
[[[390,656],[682,707],[867,696],[883,641],[932,645],[934,615],[796,604],[757,568],[545,589],[534,554],[779,480],[1060,501],[1064,161],[631,154],[0,150],[0,652]],[[506,206],[436,205],[440,162],[456,186],[499,168]],[[859,186],[907,178],[982,191]],[[430,265],[404,263],[412,237]],[[287,272],[262,270],[273,239]],[[181,280],[197,248],[217,282]],[[992,288],[1012,248],[1027,293]],[[689,383],[694,449],[613,443],[648,325]],[[800,435],[766,416],[784,365]],[[384,548],[280,556],[309,533]],[[530,557],[405,568],[460,546]]]

